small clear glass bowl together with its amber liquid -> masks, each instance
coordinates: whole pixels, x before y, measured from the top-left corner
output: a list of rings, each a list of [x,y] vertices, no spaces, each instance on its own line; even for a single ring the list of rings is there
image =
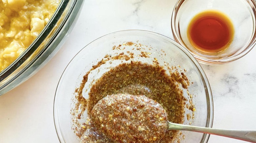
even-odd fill
[[[232,62],[255,45],[255,8],[253,0],[178,0],[173,37],[200,63]]]

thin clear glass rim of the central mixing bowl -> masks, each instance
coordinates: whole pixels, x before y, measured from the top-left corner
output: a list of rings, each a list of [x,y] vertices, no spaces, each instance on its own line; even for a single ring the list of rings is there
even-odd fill
[[[199,64],[199,62],[194,58],[194,56],[192,56],[190,54],[190,52],[184,48],[182,45],[180,45],[179,43],[177,43],[176,41],[168,38],[167,36],[164,36],[162,34],[159,34],[159,33],[156,33],[156,32],[152,32],[152,31],[147,31],[147,30],[137,30],[137,29],[130,29],[130,30],[121,30],[121,31],[116,31],[116,32],[112,32],[112,33],[109,33],[109,34],[106,34],[106,35],[103,35],[93,41],[91,41],[90,43],[88,43],[86,46],[84,46],[71,60],[70,62],[67,64],[67,66],[65,67],[64,71],[62,72],[61,74],[61,77],[58,81],[58,85],[56,87],[56,90],[55,90],[55,95],[54,95],[54,101],[53,101],[53,120],[54,120],[54,126],[55,126],[55,130],[56,130],[56,133],[57,133],[57,136],[58,136],[58,139],[59,141],[62,143],[62,142],[65,142],[64,138],[63,138],[63,135],[62,135],[62,131],[61,131],[61,128],[60,128],[60,125],[59,125],[59,119],[58,119],[58,112],[57,112],[57,105],[56,105],[56,100],[59,98],[58,97],[58,87],[59,85],[61,84],[61,81],[62,81],[62,77],[65,73],[65,71],[67,70],[67,68],[69,67],[69,65],[71,64],[71,62],[73,61],[73,59],[79,55],[81,53],[81,51],[83,51],[84,49],[86,49],[89,45],[93,44],[94,42],[96,42],[97,40],[101,39],[101,38],[104,38],[104,37],[108,37],[108,36],[111,36],[111,35],[114,35],[114,34],[122,34],[122,33],[125,33],[125,32],[136,32],[136,33],[147,33],[147,34],[151,34],[151,35],[154,35],[154,36],[160,36],[160,37],[163,37],[163,38],[166,38],[167,40],[169,40],[171,43],[173,43],[175,46],[177,46],[178,48],[181,49],[181,51],[183,51],[189,58],[190,58],[190,61],[194,64],[195,68],[201,73],[201,79],[203,80],[204,82],[204,87],[207,88],[207,92],[206,93],[206,104],[207,104],[207,121],[206,121],[206,127],[210,127],[212,128],[212,125],[213,125],[213,115],[214,115],[214,108],[213,108],[213,96],[212,96],[212,91],[211,91],[211,87],[210,87],[210,84],[208,82],[208,79],[206,77],[206,74],[205,72],[203,71],[203,68],[201,67],[201,65]],[[205,90],[206,91],[206,90]],[[203,134],[203,137],[201,139],[201,143],[207,143],[208,140],[209,140],[209,137],[210,137],[210,134]]]

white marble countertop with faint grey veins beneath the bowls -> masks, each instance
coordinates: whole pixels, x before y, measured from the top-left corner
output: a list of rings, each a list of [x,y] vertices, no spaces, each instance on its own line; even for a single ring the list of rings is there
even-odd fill
[[[0,96],[0,142],[59,142],[53,99],[68,62],[92,40],[105,34],[143,29],[173,38],[171,13],[176,0],[85,0],[61,50],[32,78]],[[256,48],[220,66],[202,65],[214,98],[214,128],[256,130]],[[211,135],[209,143],[243,141]]]

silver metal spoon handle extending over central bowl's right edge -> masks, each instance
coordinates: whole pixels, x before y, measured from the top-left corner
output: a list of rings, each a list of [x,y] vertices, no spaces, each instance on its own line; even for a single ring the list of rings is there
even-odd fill
[[[235,139],[240,139],[248,142],[256,143],[256,131],[253,130],[223,130],[223,129],[213,129],[205,127],[196,127],[189,125],[176,124],[168,121],[168,130],[183,130],[183,131],[193,131],[205,134],[220,135]]]

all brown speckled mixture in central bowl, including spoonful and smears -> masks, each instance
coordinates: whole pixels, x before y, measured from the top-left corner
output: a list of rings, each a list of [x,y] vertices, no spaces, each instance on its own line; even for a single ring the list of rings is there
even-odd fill
[[[180,131],[170,130],[163,133],[158,132],[158,128],[165,129],[167,119],[174,123],[183,123],[185,110],[195,111],[192,99],[183,96],[184,90],[191,84],[185,75],[186,70],[181,71],[166,62],[163,66],[160,65],[156,57],[151,57],[154,50],[152,47],[143,48],[140,44],[128,42],[114,46],[113,50],[117,52],[106,55],[93,65],[83,76],[80,87],[75,89],[71,115],[72,129],[78,140],[81,143],[180,142],[184,137]],[[160,55],[166,56],[164,51]],[[151,62],[138,61],[139,58],[150,59]],[[99,74],[102,65],[113,64],[115,60],[121,62],[103,72],[99,78],[93,78],[92,84],[90,74],[94,71]],[[108,97],[113,97],[115,101],[108,100]],[[131,102],[126,103],[126,100]],[[104,110],[104,119],[96,111],[97,103]],[[162,112],[156,103],[166,112]],[[116,113],[108,111],[105,108],[107,106],[112,107]],[[125,106],[128,107],[124,108]],[[85,114],[87,118],[84,118]],[[133,118],[145,120],[136,124],[133,123]],[[113,121],[116,125],[106,124],[102,127],[98,121]],[[149,122],[152,126],[146,126]],[[122,123],[126,126],[120,126]]]

